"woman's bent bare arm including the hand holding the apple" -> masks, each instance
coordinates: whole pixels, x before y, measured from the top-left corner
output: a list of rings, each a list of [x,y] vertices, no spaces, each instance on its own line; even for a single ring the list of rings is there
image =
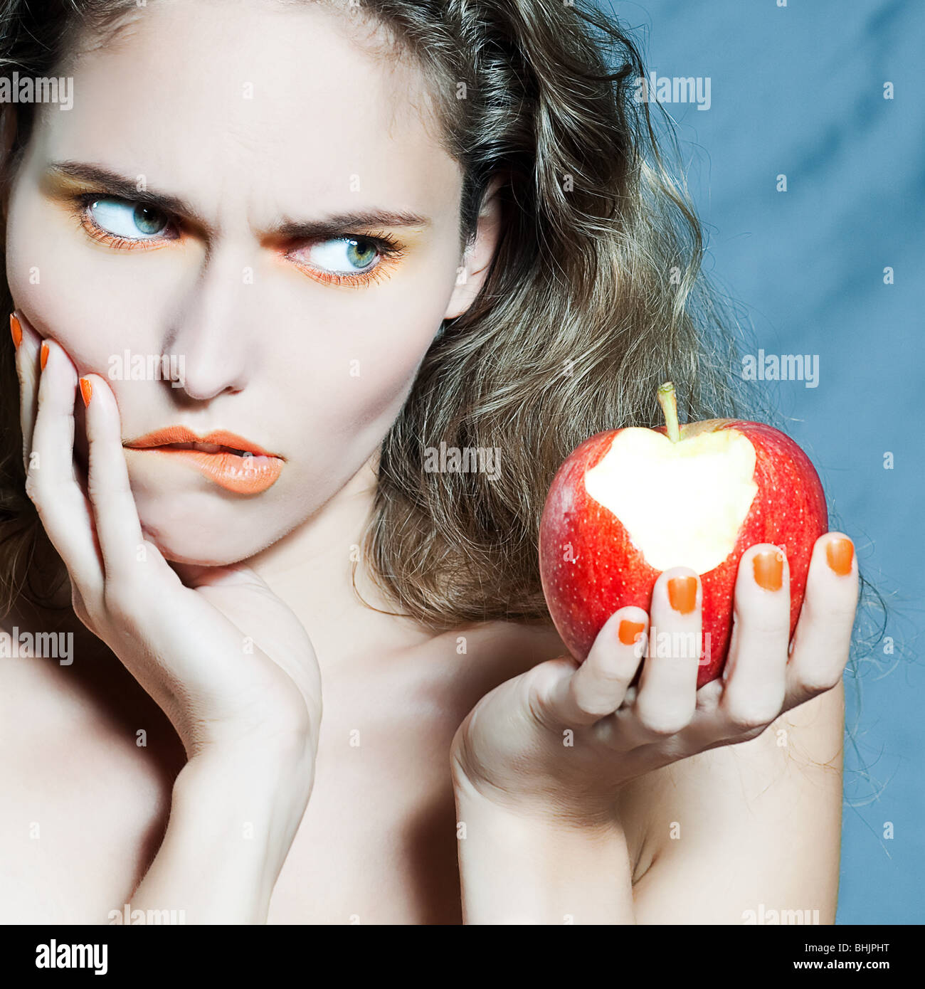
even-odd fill
[[[747,923],[748,910],[809,909],[831,922],[857,565],[847,537],[817,540],[788,656],[786,561],[771,587],[752,566],[778,553],[742,558],[721,679],[696,689],[698,655],[650,650],[636,685],[649,616],[622,608],[584,664],[540,664],[470,712],[452,756],[460,820],[478,826],[460,841],[467,918]],[[696,605],[673,614],[678,576]],[[693,633],[682,653],[699,642],[698,584],[677,568],[653,591],[652,626]],[[623,836],[640,822],[651,862],[632,888]]]

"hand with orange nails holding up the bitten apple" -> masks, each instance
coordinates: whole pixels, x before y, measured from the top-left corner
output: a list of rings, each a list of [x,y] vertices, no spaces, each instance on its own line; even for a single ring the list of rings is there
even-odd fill
[[[852,542],[839,532],[816,540],[789,657],[790,590],[777,557],[769,543],[742,555],[726,668],[699,689],[702,581],[672,567],[656,580],[648,610],[626,605],[607,618],[584,662],[540,663],[483,697],[453,740],[459,820],[484,805],[513,815],[515,829],[608,832],[620,827],[614,797],[624,783],[750,741],[836,686],[858,596]],[[756,578],[776,564],[780,586],[762,586]],[[654,653],[655,629],[680,648]]]

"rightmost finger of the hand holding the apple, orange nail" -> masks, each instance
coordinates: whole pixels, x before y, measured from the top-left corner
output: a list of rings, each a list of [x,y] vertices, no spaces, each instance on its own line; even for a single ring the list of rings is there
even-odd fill
[[[858,560],[843,532],[828,532],[813,546],[806,593],[786,668],[784,709],[824,693],[845,672],[858,604]]]

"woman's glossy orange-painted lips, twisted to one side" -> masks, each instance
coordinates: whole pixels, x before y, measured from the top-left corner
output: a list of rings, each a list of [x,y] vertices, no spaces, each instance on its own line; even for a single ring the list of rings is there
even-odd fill
[[[277,454],[225,429],[197,436],[186,426],[167,426],[126,440],[123,446],[182,460],[234,494],[265,492],[276,483],[285,463]]]

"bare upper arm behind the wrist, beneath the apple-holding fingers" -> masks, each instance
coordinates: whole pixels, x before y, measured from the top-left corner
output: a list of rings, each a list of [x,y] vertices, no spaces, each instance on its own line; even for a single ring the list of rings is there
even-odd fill
[[[787,916],[834,924],[843,724],[839,684],[750,742],[655,773],[658,784],[640,794],[651,801],[653,845],[634,891],[638,923],[744,924],[799,911]]]

